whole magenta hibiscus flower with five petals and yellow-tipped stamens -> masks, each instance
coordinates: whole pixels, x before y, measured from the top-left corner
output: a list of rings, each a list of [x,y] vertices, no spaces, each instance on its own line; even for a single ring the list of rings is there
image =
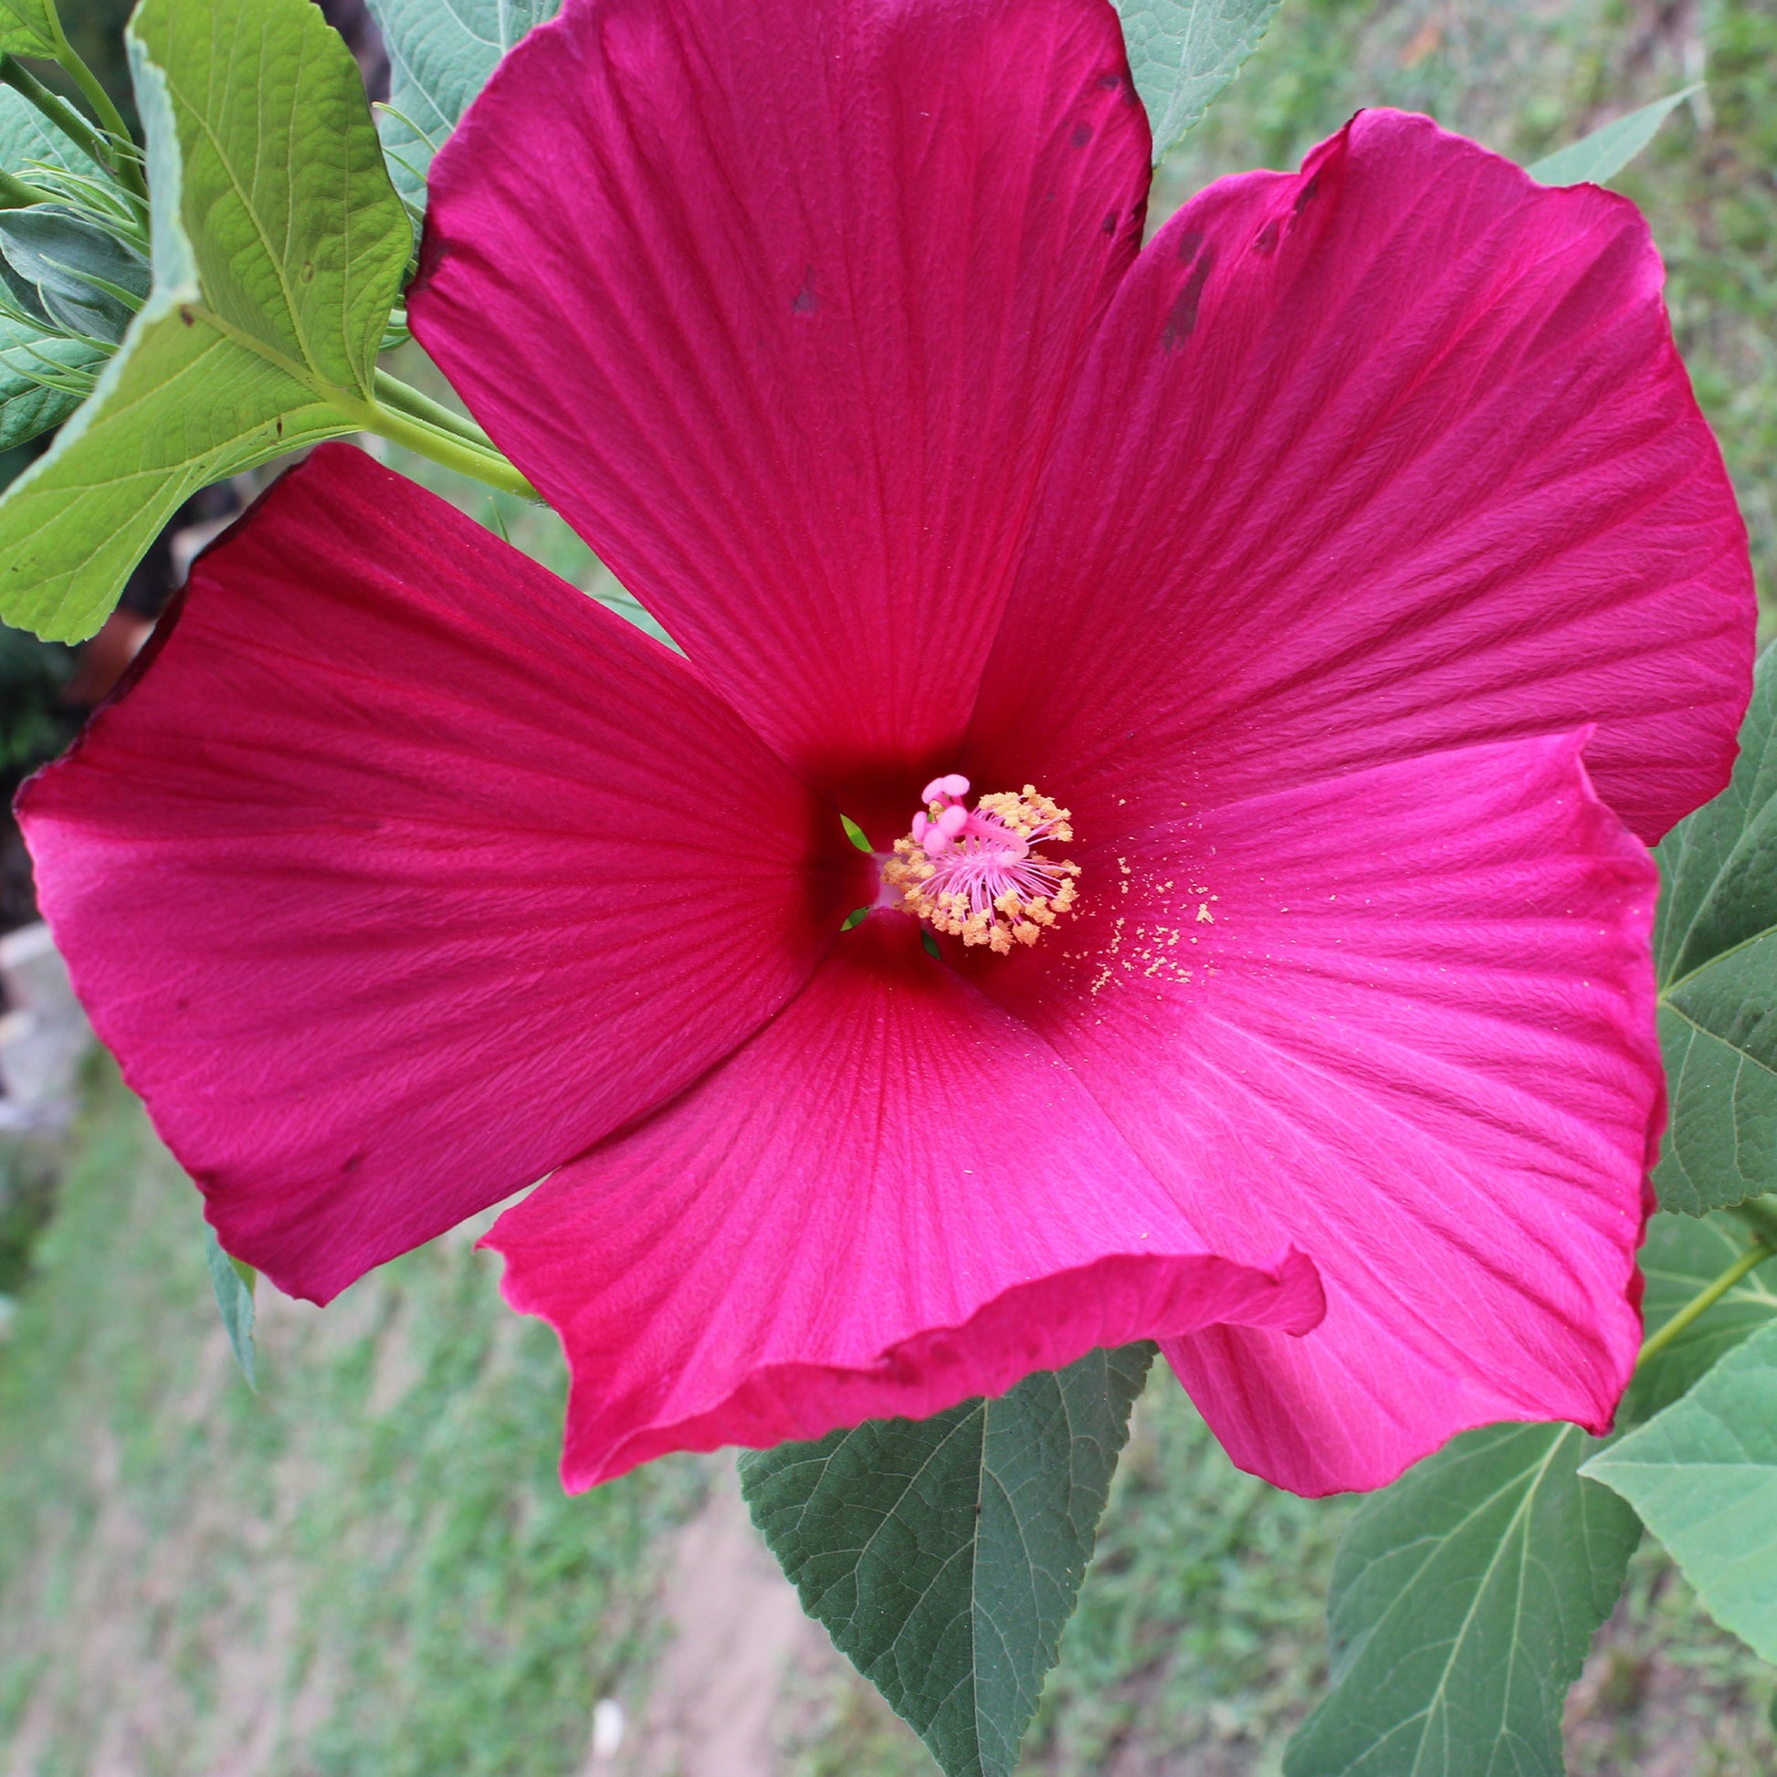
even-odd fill
[[[329,446],[23,800],[283,1288],[553,1169],[570,1486],[1134,1338],[1299,1491],[1610,1420],[1752,638],[1660,261],[1388,112],[1141,249],[1148,149],[1107,0],[569,0],[414,327],[684,657]]]

